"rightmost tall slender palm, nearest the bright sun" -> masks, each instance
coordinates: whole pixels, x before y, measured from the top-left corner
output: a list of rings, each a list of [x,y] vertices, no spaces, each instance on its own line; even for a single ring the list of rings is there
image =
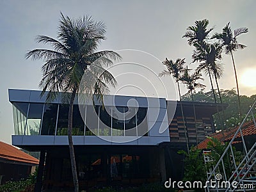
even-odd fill
[[[237,72],[236,72],[236,65],[234,61],[233,52],[237,51],[239,49],[244,49],[246,45],[239,44],[237,42],[237,36],[241,35],[242,33],[247,33],[248,28],[238,28],[234,30],[234,35],[232,34],[232,30],[229,26],[229,23],[225,28],[222,29],[222,33],[216,33],[212,36],[212,38],[217,38],[220,40],[221,45],[225,48],[225,54],[230,54],[233,62],[235,77],[236,77],[236,88],[237,88],[237,97],[238,97],[238,104],[239,104],[239,113],[241,115],[241,100],[240,100],[240,94],[239,94],[239,86],[238,86],[238,80],[237,80]]]

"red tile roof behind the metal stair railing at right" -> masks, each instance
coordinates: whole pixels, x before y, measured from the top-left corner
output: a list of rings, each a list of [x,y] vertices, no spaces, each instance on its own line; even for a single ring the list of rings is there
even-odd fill
[[[234,137],[234,134],[236,133],[238,128],[239,128],[239,126],[232,127],[231,129],[227,129],[225,131],[216,132],[214,134],[211,134],[210,137],[217,138],[221,142],[228,142],[228,141],[232,140],[232,138]],[[242,127],[242,132],[243,132],[243,136],[249,136],[252,134],[256,134],[256,127],[252,120],[244,123],[244,125]],[[241,138],[241,132],[238,132],[238,134],[236,136],[236,140],[237,139],[239,140],[240,138]],[[209,143],[209,141],[210,141],[210,139],[206,138],[204,141],[199,143],[197,145],[197,147],[200,149],[207,148],[207,143]],[[239,143],[239,142],[241,142],[241,141],[234,141],[233,143]]]

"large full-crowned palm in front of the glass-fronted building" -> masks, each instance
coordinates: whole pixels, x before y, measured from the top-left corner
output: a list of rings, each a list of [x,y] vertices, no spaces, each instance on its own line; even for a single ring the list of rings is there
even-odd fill
[[[68,95],[68,146],[76,192],[79,191],[79,184],[72,140],[72,117],[76,93],[81,91],[79,84],[83,74],[90,72],[88,74],[94,78],[88,78],[82,87],[87,92],[96,94],[98,99],[102,99],[101,96],[108,90],[108,86],[116,84],[115,78],[104,70],[104,67],[121,58],[114,51],[97,52],[100,41],[105,39],[105,33],[106,26],[103,22],[95,22],[87,16],[71,19],[61,13],[57,39],[44,35],[36,36],[38,43],[51,45],[53,49],[34,49],[26,54],[27,59],[45,62],[42,66],[43,77],[39,84],[42,88],[41,95],[49,91],[47,100],[54,100],[60,92],[68,92],[61,96]],[[96,67],[93,65],[95,61]]]

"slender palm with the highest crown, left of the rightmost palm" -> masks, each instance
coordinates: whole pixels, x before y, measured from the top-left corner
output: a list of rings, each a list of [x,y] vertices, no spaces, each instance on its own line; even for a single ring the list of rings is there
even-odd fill
[[[209,20],[207,20],[207,19],[196,20],[195,26],[189,26],[187,28],[185,35],[182,36],[182,38],[184,38],[184,37],[188,38],[188,44],[193,45],[196,48],[197,52],[204,52],[205,49],[207,48],[206,45],[207,45],[207,40],[209,40],[209,33],[213,30],[213,28],[207,29],[208,25],[209,25]],[[195,54],[196,51],[194,51],[193,55]],[[196,60],[194,58],[193,62],[195,62],[195,61]],[[207,66],[207,74],[211,74],[210,70],[211,70],[211,68],[209,66]],[[220,111],[217,106],[217,99],[216,99],[216,95],[214,92],[212,77],[209,76],[209,78],[210,78],[210,83],[211,83],[211,88],[212,88],[212,95],[214,97],[214,102],[216,104],[218,118],[220,119],[220,121],[222,121],[221,116],[220,116]]]

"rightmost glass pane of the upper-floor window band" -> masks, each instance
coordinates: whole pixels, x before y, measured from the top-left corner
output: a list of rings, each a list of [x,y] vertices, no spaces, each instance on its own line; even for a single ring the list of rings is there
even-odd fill
[[[148,136],[147,108],[138,108],[136,116],[138,136]]]

